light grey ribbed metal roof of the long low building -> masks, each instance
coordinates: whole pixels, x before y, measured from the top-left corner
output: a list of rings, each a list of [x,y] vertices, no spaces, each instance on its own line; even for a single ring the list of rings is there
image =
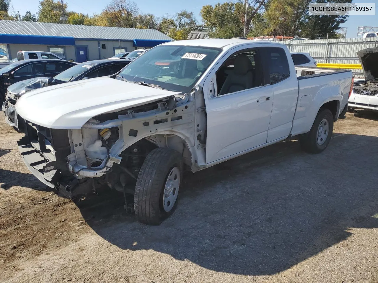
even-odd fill
[[[9,20],[0,20],[0,34],[47,35],[114,40],[172,40],[172,38],[156,29],[113,28],[109,26],[82,26]]]

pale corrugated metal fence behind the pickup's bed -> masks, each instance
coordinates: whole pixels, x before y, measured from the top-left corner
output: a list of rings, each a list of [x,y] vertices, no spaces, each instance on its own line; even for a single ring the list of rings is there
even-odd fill
[[[317,63],[359,64],[356,52],[378,46],[377,38],[343,38],[282,41],[290,52],[306,52]],[[352,69],[355,75],[363,75],[362,69]]]

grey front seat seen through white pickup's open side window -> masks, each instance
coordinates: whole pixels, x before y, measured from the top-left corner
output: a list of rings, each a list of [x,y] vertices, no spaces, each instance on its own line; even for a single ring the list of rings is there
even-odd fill
[[[219,95],[242,91],[253,87],[253,66],[245,54],[235,57],[234,69],[229,74],[220,89]]]

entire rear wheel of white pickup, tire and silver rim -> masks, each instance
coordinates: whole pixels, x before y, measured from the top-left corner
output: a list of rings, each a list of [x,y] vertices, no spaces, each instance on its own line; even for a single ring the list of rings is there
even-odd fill
[[[301,136],[299,141],[304,151],[320,153],[327,148],[333,132],[333,115],[328,109],[319,111],[310,132]]]

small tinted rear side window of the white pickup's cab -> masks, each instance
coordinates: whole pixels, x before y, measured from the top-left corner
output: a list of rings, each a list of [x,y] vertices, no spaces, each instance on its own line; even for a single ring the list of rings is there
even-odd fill
[[[289,63],[285,50],[279,47],[268,47],[264,50],[266,52],[265,60],[269,68],[270,83],[278,83],[289,77]]]

